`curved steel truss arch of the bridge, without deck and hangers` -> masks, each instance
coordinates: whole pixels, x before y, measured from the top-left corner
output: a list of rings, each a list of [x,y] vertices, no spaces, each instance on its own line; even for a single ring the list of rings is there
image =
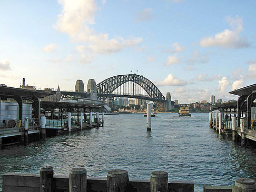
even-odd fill
[[[160,90],[149,79],[137,74],[116,75],[103,80],[96,85],[97,95],[105,100],[115,89],[127,82],[134,82],[137,85],[140,85],[149,95],[147,100],[153,100],[154,102],[165,100],[165,97]]]

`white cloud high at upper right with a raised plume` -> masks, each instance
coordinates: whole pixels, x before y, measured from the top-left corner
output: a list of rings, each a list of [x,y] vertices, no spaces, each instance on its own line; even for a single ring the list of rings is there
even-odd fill
[[[243,48],[249,47],[250,43],[247,41],[247,37],[240,37],[240,33],[243,31],[243,20],[239,16],[232,18],[227,17],[225,21],[231,26],[230,29],[217,33],[214,37],[203,37],[200,41],[202,47],[219,46],[225,48]]]

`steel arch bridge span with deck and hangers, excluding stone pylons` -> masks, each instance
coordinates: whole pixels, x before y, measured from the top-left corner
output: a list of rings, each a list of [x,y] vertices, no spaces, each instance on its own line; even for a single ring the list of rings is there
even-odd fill
[[[139,85],[139,86],[138,86]],[[134,88],[135,86],[135,88]],[[107,97],[129,97],[151,100],[153,102],[164,102],[165,97],[160,90],[147,78],[137,74],[116,75],[103,80],[96,85],[97,96],[101,100]],[[138,89],[140,87],[143,92]],[[115,90],[120,88],[120,92]]]

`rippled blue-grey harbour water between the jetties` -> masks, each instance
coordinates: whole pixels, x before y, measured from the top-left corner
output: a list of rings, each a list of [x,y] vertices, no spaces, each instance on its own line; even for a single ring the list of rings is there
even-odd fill
[[[113,168],[126,169],[130,178],[150,178],[153,170],[165,170],[169,180],[193,180],[195,191],[256,177],[255,150],[220,137],[209,128],[208,117],[158,114],[152,117],[152,131],[146,132],[143,114],[105,116],[104,127],[0,150],[0,177],[6,172],[39,173],[45,165],[65,175],[81,166],[88,176],[100,177]]]

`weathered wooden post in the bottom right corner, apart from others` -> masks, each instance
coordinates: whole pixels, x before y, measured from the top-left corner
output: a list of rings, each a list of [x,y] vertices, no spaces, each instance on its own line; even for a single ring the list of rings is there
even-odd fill
[[[232,192],[252,192],[256,191],[255,180],[247,178],[239,178],[235,181]]]

